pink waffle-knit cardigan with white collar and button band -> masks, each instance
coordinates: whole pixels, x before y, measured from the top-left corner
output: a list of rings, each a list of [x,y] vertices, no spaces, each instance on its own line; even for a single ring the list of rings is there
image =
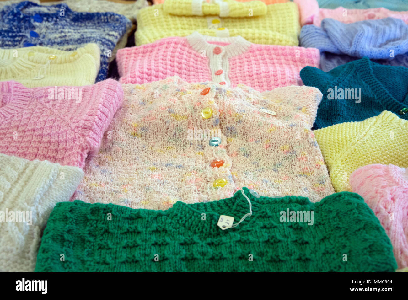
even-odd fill
[[[120,49],[116,61],[122,83],[142,84],[177,75],[187,82],[245,84],[269,91],[303,85],[300,70],[319,67],[320,55],[315,48],[260,45],[241,36],[220,38],[194,32]]]

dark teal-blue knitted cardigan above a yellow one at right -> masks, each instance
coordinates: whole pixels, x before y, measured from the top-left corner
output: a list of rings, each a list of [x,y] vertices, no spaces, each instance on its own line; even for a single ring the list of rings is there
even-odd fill
[[[315,129],[365,120],[388,110],[408,120],[408,69],[361,58],[327,73],[315,67],[300,71],[304,84],[323,93]],[[359,95],[359,96],[358,96]]]

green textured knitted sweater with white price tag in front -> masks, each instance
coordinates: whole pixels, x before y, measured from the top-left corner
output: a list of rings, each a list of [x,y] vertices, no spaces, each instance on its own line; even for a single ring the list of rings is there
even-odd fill
[[[79,200],[60,202],[44,231],[35,271],[397,268],[379,220],[355,193],[336,193],[312,203],[304,197],[257,198],[247,188],[243,192],[253,214],[225,230],[217,226],[220,215],[234,217],[235,224],[249,212],[242,191],[213,202],[176,202],[166,211]],[[313,211],[313,222],[287,222],[290,218],[282,211],[288,209]]]

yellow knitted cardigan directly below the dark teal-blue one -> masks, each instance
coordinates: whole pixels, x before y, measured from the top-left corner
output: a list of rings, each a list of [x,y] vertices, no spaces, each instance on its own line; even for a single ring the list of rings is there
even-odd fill
[[[408,167],[407,132],[408,121],[390,111],[314,131],[337,192],[351,191],[350,174],[367,164]]]

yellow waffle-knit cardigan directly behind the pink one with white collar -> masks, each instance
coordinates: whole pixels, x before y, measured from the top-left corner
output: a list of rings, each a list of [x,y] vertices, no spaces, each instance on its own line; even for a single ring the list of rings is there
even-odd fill
[[[255,44],[297,46],[299,11],[293,2],[267,5],[257,17],[176,16],[164,11],[164,4],[137,12],[136,46],[169,36],[188,36],[194,31],[207,36],[242,36]]]

